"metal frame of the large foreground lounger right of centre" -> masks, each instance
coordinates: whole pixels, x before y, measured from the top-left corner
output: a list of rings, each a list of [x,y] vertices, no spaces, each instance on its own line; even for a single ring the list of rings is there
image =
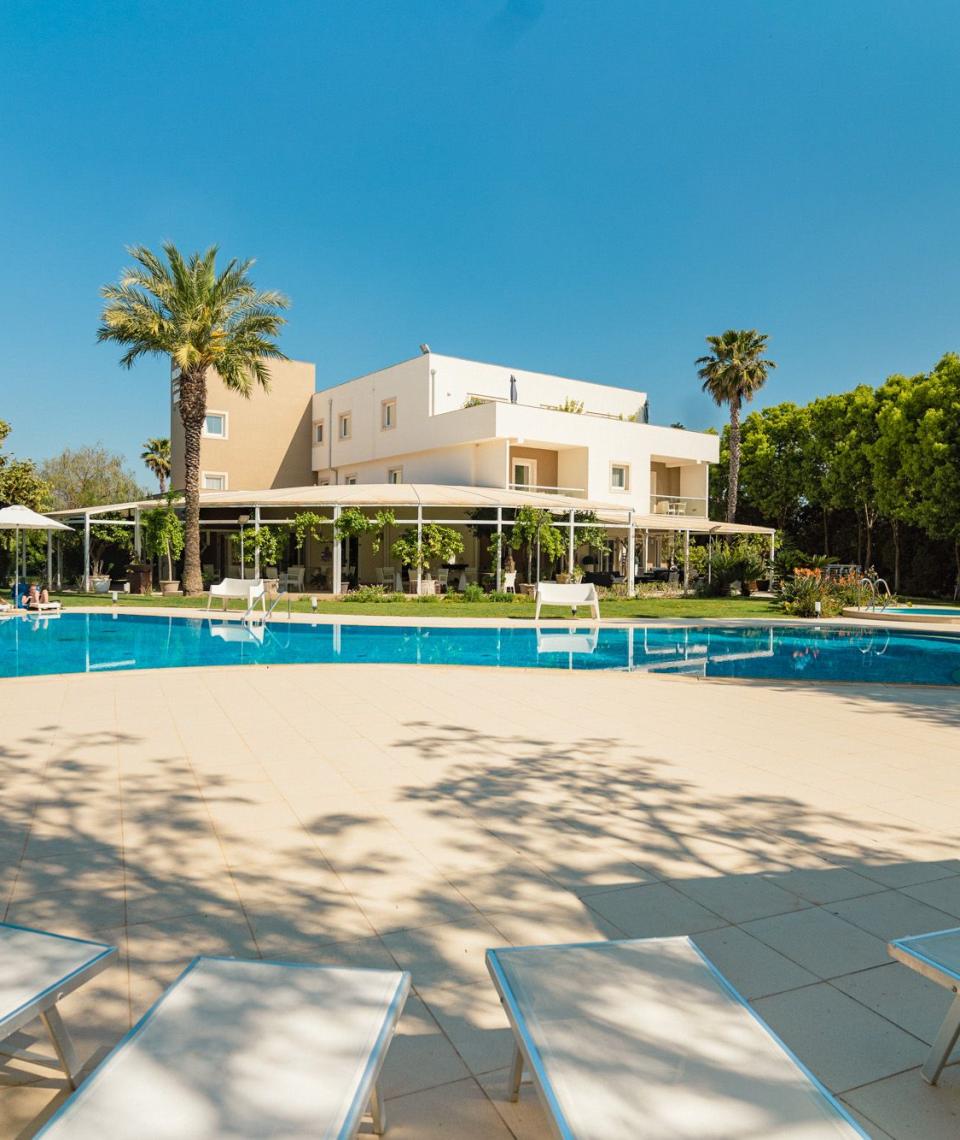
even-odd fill
[[[673,942],[673,938],[642,938],[642,939],[627,939],[644,943],[657,943],[657,942]],[[605,943],[597,942],[581,942],[581,943],[566,943],[552,946],[511,946],[509,948],[510,953],[522,950],[573,950],[573,948],[591,948],[595,946],[603,946]],[[843,1105],[833,1097],[827,1086],[819,1081],[813,1073],[799,1060],[799,1058],[789,1049],[783,1041],[771,1029],[771,1027],[763,1020],[763,1018],[752,1009],[750,1003],[740,994],[733,986],[726,980],[726,978],[721,974],[721,971],[714,966],[714,963],[707,958],[702,950],[691,939],[690,945],[695,950],[698,955],[702,959],[703,964],[714,976],[714,978],[719,983],[721,987],[726,992],[726,994],[732,997],[737,1004],[741,1005],[750,1017],[764,1029],[764,1032],[775,1042],[780,1049],[783,1051],[784,1056],[796,1066],[796,1068],[807,1078],[813,1089],[823,1098],[823,1100],[829,1105],[829,1107],[836,1113],[836,1115],[847,1123],[854,1131],[854,1135],[863,1137],[864,1140],[870,1140],[870,1137],[863,1129],[856,1123],[856,1121],[851,1116],[851,1114],[844,1108]],[[513,987],[510,984],[503,967],[497,958],[496,950],[487,951],[487,969],[490,972],[490,977],[494,980],[494,985],[501,997],[501,1003],[506,1012],[507,1020],[510,1021],[510,1027],[513,1031],[513,1059],[510,1066],[510,1073],[507,1076],[507,1096],[510,1100],[516,1101],[520,1098],[520,1086],[523,1082],[524,1069],[530,1073],[532,1077],[534,1088],[537,1090],[540,1102],[546,1113],[547,1122],[550,1124],[551,1131],[556,1140],[577,1140],[577,1133],[572,1130],[567,1118],[563,1115],[563,1110],[560,1107],[560,1102],[553,1091],[551,1084],[550,1075],[546,1072],[546,1067],[540,1057],[539,1050],[534,1039],[530,1036],[523,1012],[520,1009],[520,1004],[516,1001],[516,996],[513,992]]]

